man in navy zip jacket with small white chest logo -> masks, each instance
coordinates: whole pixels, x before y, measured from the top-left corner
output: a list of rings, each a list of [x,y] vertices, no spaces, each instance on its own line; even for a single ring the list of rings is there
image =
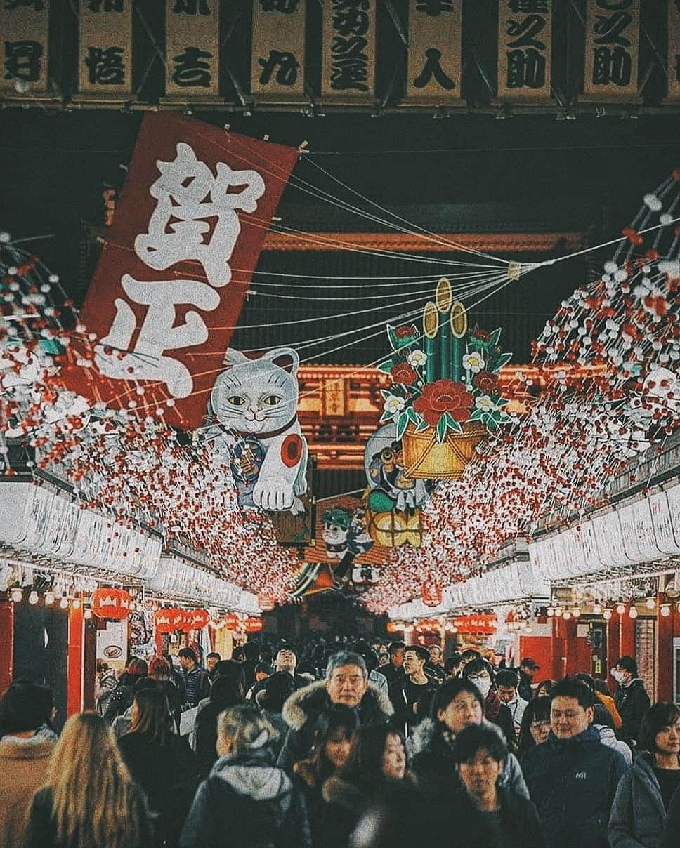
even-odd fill
[[[593,693],[565,678],[551,695],[551,732],[522,769],[549,848],[607,848],[607,824],[627,763],[592,727]]]

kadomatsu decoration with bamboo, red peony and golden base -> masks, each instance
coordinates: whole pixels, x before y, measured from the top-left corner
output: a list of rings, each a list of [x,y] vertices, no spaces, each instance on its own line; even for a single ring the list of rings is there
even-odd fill
[[[402,440],[404,476],[458,479],[486,432],[509,423],[498,372],[512,358],[498,346],[501,331],[468,328],[464,305],[442,277],[425,304],[423,333],[388,326],[392,353],[379,368],[390,374],[381,421]],[[423,345],[420,346],[420,340]]]

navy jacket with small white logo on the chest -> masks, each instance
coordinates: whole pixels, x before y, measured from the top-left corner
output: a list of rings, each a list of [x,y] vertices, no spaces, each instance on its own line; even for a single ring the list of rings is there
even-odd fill
[[[571,739],[551,732],[526,751],[522,770],[549,848],[608,848],[611,807],[627,768],[593,725]]]

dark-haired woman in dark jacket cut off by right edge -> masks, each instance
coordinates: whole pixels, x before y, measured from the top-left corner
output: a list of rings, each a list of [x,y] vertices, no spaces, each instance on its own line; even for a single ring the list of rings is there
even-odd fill
[[[649,707],[638,748],[631,771],[616,790],[607,834],[611,848],[661,845],[666,813],[680,787],[680,707],[662,702]]]

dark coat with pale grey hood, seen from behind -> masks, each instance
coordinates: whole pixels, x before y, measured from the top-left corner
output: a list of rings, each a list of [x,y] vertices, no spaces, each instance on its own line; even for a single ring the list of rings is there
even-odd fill
[[[180,848],[311,848],[305,802],[267,749],[222,756],[184,823]]]

